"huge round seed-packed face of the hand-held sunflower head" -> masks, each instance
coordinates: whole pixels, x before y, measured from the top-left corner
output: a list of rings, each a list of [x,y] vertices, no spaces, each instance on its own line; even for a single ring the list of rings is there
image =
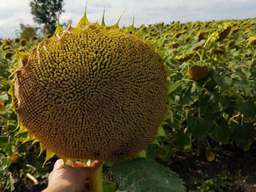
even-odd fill
[[[62,158],[130,157],[153,140],[166,108],[161,59],[109,26],[55,34],[21,59],[14,77],[22,125]]]

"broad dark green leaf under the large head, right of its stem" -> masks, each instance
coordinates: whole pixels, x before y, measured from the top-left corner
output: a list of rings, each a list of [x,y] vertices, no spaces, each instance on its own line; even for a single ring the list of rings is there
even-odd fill
[[[112,171],[119,192],[185,192],[178,174],[149,158],[120,160]]]

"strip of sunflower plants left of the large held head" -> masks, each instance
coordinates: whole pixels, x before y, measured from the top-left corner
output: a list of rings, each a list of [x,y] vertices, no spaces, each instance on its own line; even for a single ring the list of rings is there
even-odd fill
[[[20,42],[14,40],[9,42],[9,50],[13,52],[21,47],[29,50],[29,46],[35,43],[30,40],[26,46],[21,46]],[[49,170],[42,167],[45,158],[37,158],[40,151],[37,144],[34,147],[22,144],[26,139],[24,134],[14,137],[18,133],[17,117],[13,111],[7,111],[11,104],[7,91],[10,89],[9,77],[14,70],[12,66],[17,65],[17,60],[14,55],[11,58],[4,58],[6,50],[2,50],[2,46],[0,46],[0,101],[5,103],[6,109],[0,111],[0,191],[15,191],[17,182],[25,186],[30,179],[36,184],[38,179],[47,177]]]

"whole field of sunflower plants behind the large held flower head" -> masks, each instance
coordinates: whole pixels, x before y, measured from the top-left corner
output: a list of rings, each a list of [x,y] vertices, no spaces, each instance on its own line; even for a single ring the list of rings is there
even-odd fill
[[[175,153],[194,151],[202,161],[214,163],[218,161],[216,146],[235,147],[246,153],[255,145],[256,19],[157,23],[136,30],[144,41],[154,42],[154,49],[162,53],[168,73],[170,109],[158,136],[147,146],[149,161],[146,165],[154,167],[155,175],[169,171],[168,177],[155,176],[155,179],[173,182],[170,188],[158,182],[159,190],[154,191],[185,191],[182,177],[178,178],[178,174],[165,167],[171,164]],[[31,37],[30,40],[0,41],[0,191],[43,190],[57,159],[54,157],[44,164],[46,153],[40,150],[38,143],[32,145],[31,141],[26,141],[25,133],[18,132],[16,114],[8,110],[11,105],[9,82],[18,55],[41,40]],[[124,184],[117,177],[130,174],[123,167],[136,168],[141,164],[140,159],[134,159],[134,162],[122,160],[103,167],[104,191],[155,189],[152,183],[150,186],[150,182],[145,181],[131,190],[128,186],[134,179],[126,179]],[[138,175],[134,174],[136,177]],[[186,179],[183,180],[188,187]],[[177,190],[174,190],[175,185]],[[162,190],[165,187],[167,190]],[[207,188],[211,190],[202,190],[202,183],[200,187],[186,190],[229,191],[221,185],[219,188],[211,185],[212,188]]]

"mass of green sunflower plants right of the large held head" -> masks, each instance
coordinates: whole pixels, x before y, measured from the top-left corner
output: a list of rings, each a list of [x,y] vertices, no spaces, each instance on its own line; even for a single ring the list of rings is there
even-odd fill
[[[143,28],[145,40],[166,50],[173,117],[165,128],[179,150],[205,138],[250,149],[256,118],[255,23],[172,22]],[[188,73],[192,66],[207,66],[209,72],[194,78]]]

